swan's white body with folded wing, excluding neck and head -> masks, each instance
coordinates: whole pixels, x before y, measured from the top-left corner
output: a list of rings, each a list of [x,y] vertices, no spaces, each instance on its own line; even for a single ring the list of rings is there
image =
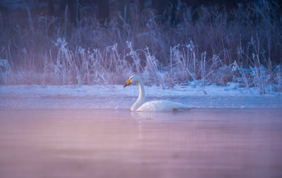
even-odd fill
[[[192,108],[182,103],[176,103],[172,101],[149,101],[139,108],[137,111],[164,111],[164,110],[175,110],[175,109],[189,109]]]

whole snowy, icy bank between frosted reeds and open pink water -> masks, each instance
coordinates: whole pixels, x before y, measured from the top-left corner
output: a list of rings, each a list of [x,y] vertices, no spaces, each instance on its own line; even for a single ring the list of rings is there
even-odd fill
[[[200,87],[176,86],[145,87],[147,101],[166,99],[185,103],[196,108],[282,108],[281,93],[259,94],[259,89],[239,88],[230,83],[227,87],[210,85]],[[97,108],[128,109],[138,96],[138,87],[132,85],[72,85],[0,86],[0,108]]]

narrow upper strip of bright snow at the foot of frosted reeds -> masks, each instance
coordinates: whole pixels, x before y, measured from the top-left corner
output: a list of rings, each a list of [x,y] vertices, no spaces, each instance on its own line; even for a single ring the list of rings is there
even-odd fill
[[[145,86],[147,96],[281,96],[281,92],[267,91],[267,94],[259,94],[259,89],[240,88],[236,83],[228,83],[226,87],[209,85],[204,87],[204,94],[200,87],[194,85],[176,86],[173,89],[162,89],[161,87]],[[30,96],[30,95],[67,95],[67,96],[138,96],[138,86],[130,85],[0,85],[0,94],[8,96]]]

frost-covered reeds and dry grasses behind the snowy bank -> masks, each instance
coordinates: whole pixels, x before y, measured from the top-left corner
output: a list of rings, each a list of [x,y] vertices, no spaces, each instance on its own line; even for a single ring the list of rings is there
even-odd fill
[[[68,9],[66,9],[67,14]],[[85,15],[76,25],[64,18],[0,15],[1,84],[124,84],[139,75],[163,89],[177,84],[282,90],[282,18],[274,2],[178,8],[178,22],[133,8],[103,24]],[[192,18],[197,13],[197,19]],[[165,18],[166,17],[166,18]]]

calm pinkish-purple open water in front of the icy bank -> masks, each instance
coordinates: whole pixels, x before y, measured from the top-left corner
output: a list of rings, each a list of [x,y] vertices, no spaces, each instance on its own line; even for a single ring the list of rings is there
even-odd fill
[[[282,177],[279,108],[0,117],[0,177]]]

